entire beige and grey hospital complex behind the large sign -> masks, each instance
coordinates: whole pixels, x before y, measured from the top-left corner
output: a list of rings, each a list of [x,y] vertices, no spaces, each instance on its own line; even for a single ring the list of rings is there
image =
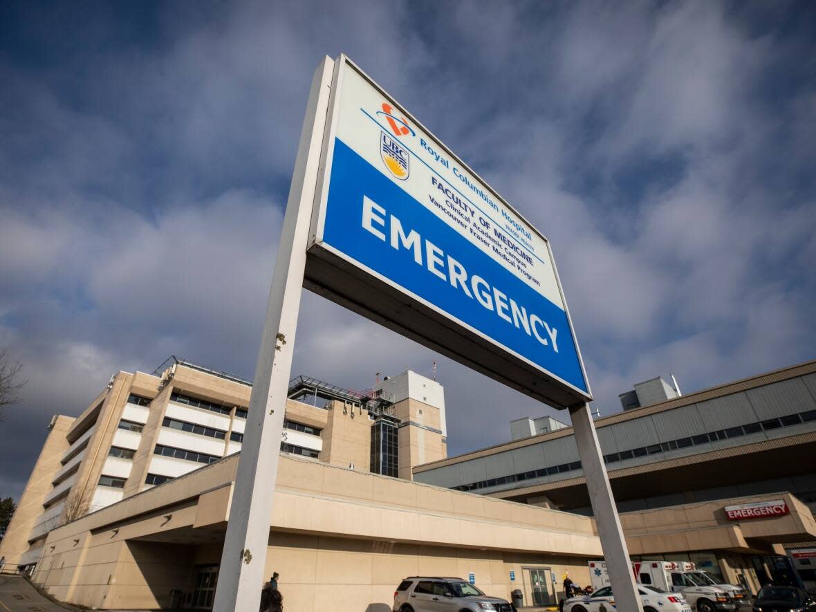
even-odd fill
[[[0,542],[6,570],[90,608],[211,610],[250,392],[171,358],[55,415]],[[526,606],[556,603],[565,573],[589,582],[602,552],[568,424],[534,415],[449,457],[444,388],[414,371],[365,391],[301,375],[288,395],[269,538],[252,551],[287,610],[387,612],[411,575],[521,589]],[[814,398],[816,361],[623,393],[596,428],[632,557],[695,561],[753,592],[769,576],[816,587]]]

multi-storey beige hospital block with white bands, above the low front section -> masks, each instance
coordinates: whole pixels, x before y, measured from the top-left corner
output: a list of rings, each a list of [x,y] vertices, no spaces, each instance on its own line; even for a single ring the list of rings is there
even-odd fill
[[[186,361],[166,363],[161,370],[153,375],[120,371],[81,415],[55,416],[0,543],[7,565],[30,569],[55,527],[241,450],[251,384]],[[380,385],[385,393],[361,393],[294,379],[281,450],[388,473],[384,462],[373,460],[374,442],[381,442],[375,431],[386,422],[397,432],[398,444],[380,443],[377,456],[386,451],[392,476],[398,469],[410,479],[414,464],[444,458],[441,385],[410,371],[385,382],[390,383]]]

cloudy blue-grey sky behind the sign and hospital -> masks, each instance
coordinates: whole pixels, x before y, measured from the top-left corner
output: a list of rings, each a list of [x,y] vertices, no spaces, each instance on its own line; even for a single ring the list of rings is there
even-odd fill
[[[175,354],[251,376],[313,70],[346,52],[552,242],[603,414],[816,357],[813,2],[2,2],[0,424]],[[554,411],[304,295],[293,375],[446,387],[449,450]]]

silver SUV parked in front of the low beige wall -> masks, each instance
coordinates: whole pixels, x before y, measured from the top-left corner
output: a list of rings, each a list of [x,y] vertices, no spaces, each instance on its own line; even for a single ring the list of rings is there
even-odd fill
[[[393,612],[516,612],[506,599],[490,597],[461,578],[411,576],[394,591]]]

